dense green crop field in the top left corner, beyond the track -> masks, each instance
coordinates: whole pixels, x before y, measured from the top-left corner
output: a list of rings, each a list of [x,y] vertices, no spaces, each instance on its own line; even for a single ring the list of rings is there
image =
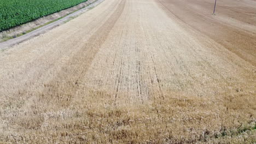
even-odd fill
[[[87,0],[0,0],[0,32]]]

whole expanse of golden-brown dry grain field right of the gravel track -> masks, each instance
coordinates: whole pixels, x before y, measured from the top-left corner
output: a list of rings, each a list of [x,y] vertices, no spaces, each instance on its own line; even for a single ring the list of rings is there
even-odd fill
[[[223,124],[233,130],[255,123],[256,2],[219,1],[217,15],[211,15],[212,4],[106,0],[0,52],[0,142],[207,142]],[[164,113],[166,121],[153,129],[161,111],[150,111],[155,117],[149,121],[144,114],[153,108],[141,106],[157,99],[164,100],[157,107],[172,99],[166,111],[177,111]],[[138,107],[139,114],[129,117],[134,123],[120,122],[131,107]],[[109,109],[128,110],[113,118],[105,116]],[[187,120],[176,123],[174,117]]]

